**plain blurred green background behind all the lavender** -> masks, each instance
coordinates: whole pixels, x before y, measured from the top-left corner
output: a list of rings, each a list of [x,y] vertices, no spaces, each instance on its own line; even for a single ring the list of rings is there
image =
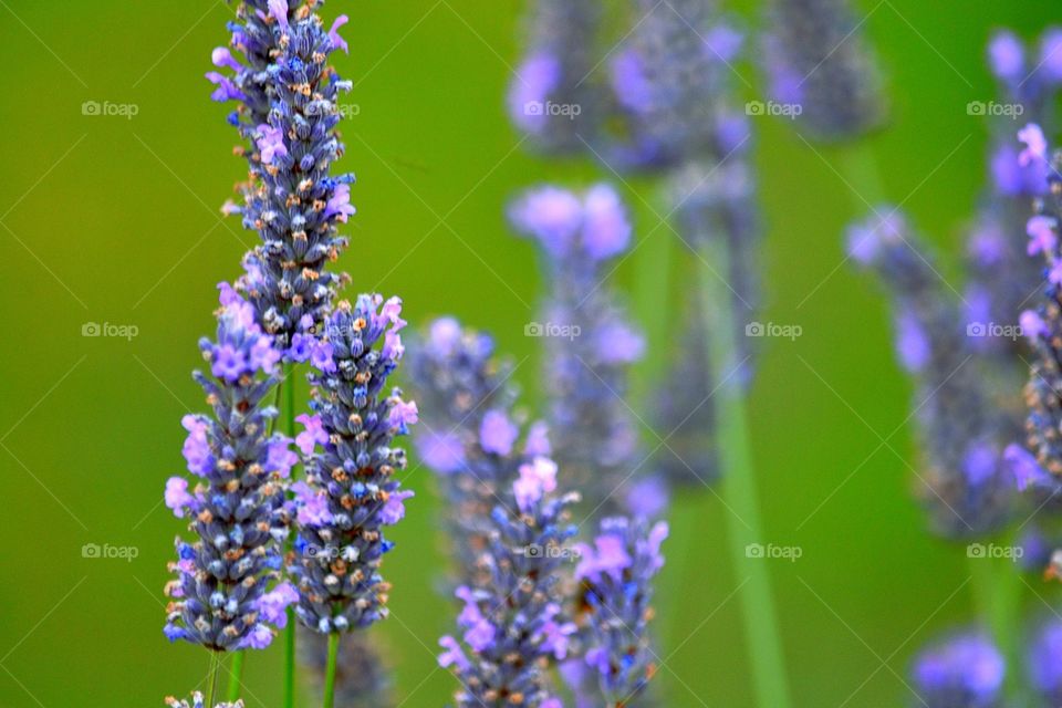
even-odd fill
[[[858,6],[889,76],[892,121],[872,139],[887,191],[957,256],[985,178],[986,126],[966,113],[969,101],[992,97],[985,41],[999,25],[1031,35],[1058,9]],[[730,9],[749,24],[761,10],[750,0]],[[400,294],[414,324],[452,312],[492,331],[521,362],[516,378],[533,406],[541,341],[523,326],[540,281],[503,206],[531,183],[608,175],[517,147],[503,95],[521,10],[517,0],[333,0],[326,15],[352,18],[351,54],[337,65],[357,106],[343,167],[358,176],[358,215],[341,266],[357,290]],[[179,419],[202,407],[189,372],[211,327],[215,284],[236,275],[253,242],[219,216],[243,167],[228,108],[208,100],[202,79],[230,18],[220,0],[0,0],[6,708],[160,705],[206,673],[201,649],[162,634],[165,564],[184,524],[160,500],[184,467]],[[739,71],[762,86],[754,66]],[[84,115],[86,101],[132,104],[136,115]],[[809,149],[784,118],[754,125],[769,229],[762,320],[803,329],[796,341],[769,342],[750,402],[764,542],[803,550],[771,565],[790,679],[800,706],[899,705],[909,694],[898,676],[916,647],[972,614],[965,553],[925,532],[912,499],[908,385],[875,283],[841,266],[842,229],[864,210],[835,171],[839,155]],[[659,209],[655,195],[637,181],[621,187],[644,238],[656,217],[642,199]],[[681,260],[673,238],[656,230],[617,284],[636,287],[639,259],[673,249]],[[638,316],[671,314],[643,305]],[[88,322],[138,335],[84,337]],[[650,342],[654,355],[673,345]],[[418,496],[386,568],[393,617],[373,632],[402,706],[437,707],[454,688],[435,663],[452,612],[431,587],[442,558],[431,480],[419,471],[409,483]],[[657,627],[667,657],[658,680],[673,706],[751,704],[725,513],[700,490],[671,514]],[[86,543],[135,546],[137,556],[85,559]],[[275,705],[280,659],[279,646],[250,658],[249,706]]]

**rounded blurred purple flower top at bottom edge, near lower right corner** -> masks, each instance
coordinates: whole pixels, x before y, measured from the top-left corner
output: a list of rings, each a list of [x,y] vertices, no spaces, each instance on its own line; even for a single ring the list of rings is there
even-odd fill
[[[925,649],[912,669],[914,688],[927,708],[1001,706],[1003,657],[979,634],[961,634]]]

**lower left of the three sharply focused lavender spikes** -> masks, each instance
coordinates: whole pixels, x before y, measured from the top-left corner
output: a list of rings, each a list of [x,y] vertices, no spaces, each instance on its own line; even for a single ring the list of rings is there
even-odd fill
[[[177,540],[177,580],[167,584],[166,636],[214,650],[264,648],[271,626],[287,623],[294,590],[279,576],[288,537],[287,479],[296,456],[291,440],[270,435],[277,409],[264,405],[277,384],[280,352],[254,322],[251,305],[221,284],[217,340],[199,344],[211,375],[196,372],[214,418],[185,416],[184,455],[200,479],[166,485],[166,504],[189,517],[194,543]]]

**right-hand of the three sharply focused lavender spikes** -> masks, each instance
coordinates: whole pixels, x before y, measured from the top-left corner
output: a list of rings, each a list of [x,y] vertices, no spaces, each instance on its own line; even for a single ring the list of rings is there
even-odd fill
[[[299,618],[322,634],[387,614],[379,564],[394,544],[384,528],[405,516],[403,502],[413,496],[394,477],[406,454],[393,441],[416,423],[417,407],[399,389],[385,389],[406,323],[397,298],[381,304],[379,295],[340,302],[311,355],[314,415],[301,418],[305,431],[296,438],[306,482],[295,489],[299,538],[288,571],[299,589]]]

